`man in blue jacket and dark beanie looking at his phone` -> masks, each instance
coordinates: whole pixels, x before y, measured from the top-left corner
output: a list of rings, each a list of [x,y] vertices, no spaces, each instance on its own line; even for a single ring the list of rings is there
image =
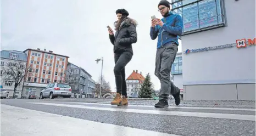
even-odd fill
[[[178,46],[179,36],[182,34],[183,21],[180,15],[170,12],[170,3],[160,1],[159,12],[163,19],[153,19],[151,25],[151,39],[157,41],[157,55],[155,57],[155,76],[161,83],[159,102],[155,107],[168,107],[168,97],[170,94],[175,99],[175,104],[180,104],[180,89],[175,87],[170,80],[171,65],[174,62]]]

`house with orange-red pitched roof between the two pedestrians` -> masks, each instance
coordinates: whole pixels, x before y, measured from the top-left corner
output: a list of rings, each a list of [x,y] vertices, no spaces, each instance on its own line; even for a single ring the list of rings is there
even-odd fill
[[[142,72],[138,73],[138,70],[136,72],[133,70],[131,75],[126,79],[127,96],[138,98],[138,92],[144,80],[145,78],[142,76]]]

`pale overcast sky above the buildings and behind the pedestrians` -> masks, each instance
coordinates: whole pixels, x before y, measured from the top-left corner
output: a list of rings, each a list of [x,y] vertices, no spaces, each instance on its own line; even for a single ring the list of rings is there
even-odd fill
[[[1,50],[41,48],[68,55],[69,61],[83,67],[97,81],[104,57],[103,75],[115,88],[113,45],[107,25],[114,28],[115,10],[125,8],[138,21],[138,41],[133,58],[126,66],[126,78],[133,70],[150,73],[155,89],[160,82],[154,76],[157,39],[149,36],[151,16],[162,18],[159,1],[118,0],[1,0]],[[181,46],[179,47],[181,52]]]

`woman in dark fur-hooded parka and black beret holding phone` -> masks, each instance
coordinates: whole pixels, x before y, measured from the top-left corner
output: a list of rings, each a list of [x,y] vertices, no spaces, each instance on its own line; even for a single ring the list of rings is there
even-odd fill
[[[132,43],[137,42],[136,20],[129,18],[125,9],[116,10],[118,21],[115,21],[114,31],[109,28],[109,39],[114,45],[114,75],[116,84],[116,97],[112,105],[128,105],[127,88],[125,82],[125,66],[131,61],[133,51]]]

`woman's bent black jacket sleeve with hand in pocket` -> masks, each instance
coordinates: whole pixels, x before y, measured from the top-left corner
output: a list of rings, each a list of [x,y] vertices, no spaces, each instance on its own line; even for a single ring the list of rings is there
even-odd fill
[[[136,43],[137,42],[137,31],[136,31],[136,26],[131,24],[129,27],[128,27],[128,33],[129,33],[129,36],[127,36],[126,38],[120,38],[118,39],[118,42],[119,43]]]

